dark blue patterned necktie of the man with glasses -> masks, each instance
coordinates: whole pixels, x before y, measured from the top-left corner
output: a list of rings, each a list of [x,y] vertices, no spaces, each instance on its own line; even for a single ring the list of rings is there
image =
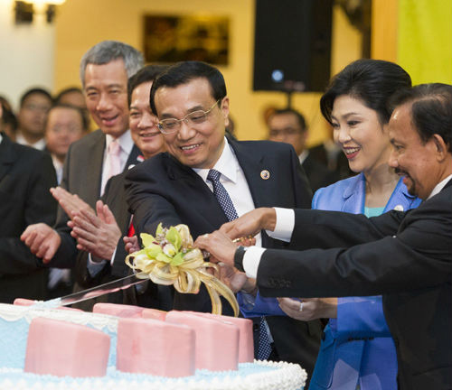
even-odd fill
[[[213,195],[220,203],[221,209],[223,209],[224,214],[228,220],[234,220],[239,218],[237,211],[232,203],[228,191],[223,187],[220,182],[221,172],[214,169],[209,171],[207,175],[207,180],[212,182]],[[267,324],[265,317],[260,317],[259,324],[259,348],[258,348],[258,359],[266,360],[271,353],[270,340],[268,339]]]

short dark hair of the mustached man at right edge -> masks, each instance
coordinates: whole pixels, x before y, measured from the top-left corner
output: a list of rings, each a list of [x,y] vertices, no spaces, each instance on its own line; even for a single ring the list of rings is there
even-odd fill
[[[422,142],[439,135],[452,152],[452,86],[432,83],[402,89],[390,101],[394,109],[411,104],[411,120]]]

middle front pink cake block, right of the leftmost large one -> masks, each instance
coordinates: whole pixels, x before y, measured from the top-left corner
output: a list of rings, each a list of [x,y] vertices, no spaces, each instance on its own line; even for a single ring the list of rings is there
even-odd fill
[[[155,376],[193,376],[195,333],[187,326],[150,319],[119,319],[117,368]]]

